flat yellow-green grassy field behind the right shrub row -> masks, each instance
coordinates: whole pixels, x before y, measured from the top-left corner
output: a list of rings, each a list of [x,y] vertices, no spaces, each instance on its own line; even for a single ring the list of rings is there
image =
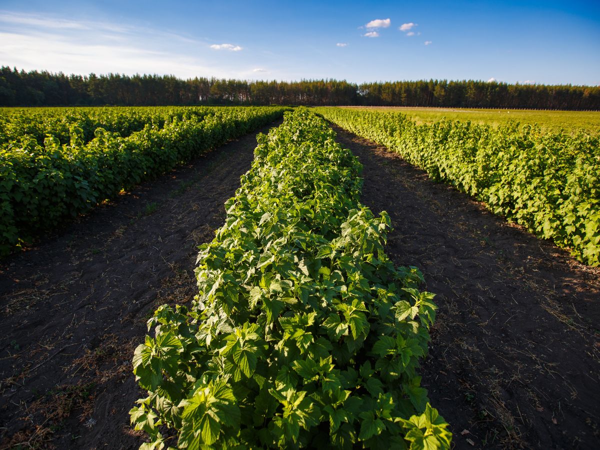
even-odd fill
[[[551,111],[536,109],[464,109],[425,108],[404,106],[352,106],[352,109],[385,110],[406,114],[417,124],[431,124],[442,118],[471,121],[477,124],[497,125],[517,121],[520,124],[537,124],[544,131],[565,130],[597,134],[600,130],[600,111]]]

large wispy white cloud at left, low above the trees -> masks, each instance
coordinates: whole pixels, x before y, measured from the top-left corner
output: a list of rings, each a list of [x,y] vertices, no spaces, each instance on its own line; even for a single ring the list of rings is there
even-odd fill
[[[74,74],[237,77],[241,70],[206,41],[163,29],[53,14],[0,11],[0,61],[24,70]],[[235,46],[233,46],[235,47]]]

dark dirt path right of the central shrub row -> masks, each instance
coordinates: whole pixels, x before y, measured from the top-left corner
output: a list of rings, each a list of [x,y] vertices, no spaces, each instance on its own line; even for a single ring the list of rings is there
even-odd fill
[[[388,254],[437,294],[422,384],[456,448],[600,448],[600,271],[334,128],[391,216]]]

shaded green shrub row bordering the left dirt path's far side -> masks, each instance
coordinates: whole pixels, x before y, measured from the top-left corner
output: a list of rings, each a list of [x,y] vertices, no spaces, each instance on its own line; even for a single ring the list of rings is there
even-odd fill
[[[73,122],[69,144],[50,134],[43,146],[30,138],[0,150],[0,254],[284,110],[238,107],[172,117],[166,109],[163,127],[148,124],[127,137],[97,128],[89,142]]]

